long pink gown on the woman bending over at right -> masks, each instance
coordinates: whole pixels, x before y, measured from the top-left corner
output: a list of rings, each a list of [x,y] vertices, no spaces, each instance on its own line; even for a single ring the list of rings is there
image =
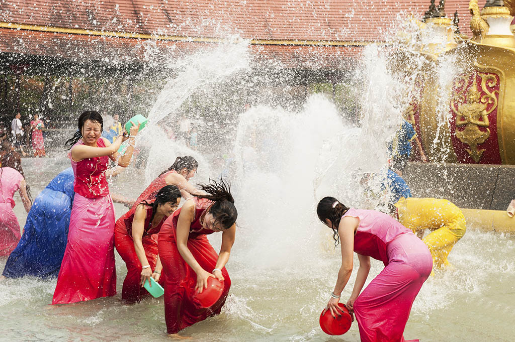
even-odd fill
[[[354,251],[385,265],[354,302],[359,336],[362,342],[405,342],[411,305],[433,268],[431,253],[411,230],[385,213],[351,208],[346,216],[359,219]]]

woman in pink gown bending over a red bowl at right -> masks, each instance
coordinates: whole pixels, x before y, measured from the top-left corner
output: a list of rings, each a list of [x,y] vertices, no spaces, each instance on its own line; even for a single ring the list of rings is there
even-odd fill
[[[335,245],[341,245],[341,267],[326,310],[339,314],[338,302],[351,276],[355,251],[359,268],[346,307],[356,315],[362,342],[404,342],[411,305],[433,268],[427,246],[389,215],[347,208],[334,197],[324,197],[317,214],[333,229]],[[382,261],[385,268],[361,292],[370,257]]]

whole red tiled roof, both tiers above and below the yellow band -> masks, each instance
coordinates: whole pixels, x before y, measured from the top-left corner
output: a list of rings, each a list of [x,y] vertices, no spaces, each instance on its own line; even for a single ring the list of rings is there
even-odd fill
[[[479,0],[479,7],[483,7],[485,1]],[[131,57],[129,51],[141,44],[138,39],[65,33],[74,29],[203,38],[226,38],[237,33],[242,38],[256,40],[382,41],[385,32],[397,25],[399,13],[421,17],[429,4],[428,0],[368,3],[357,0],[5,1],[0,5],[0,22],[48,26],[61,29],[61,33],[4,28],[0,30],[0,51],[69,57],[70,51],[88,47],[93,59],[105,53],[125,56],[125,59],[138,58]],[[445,12],[449,17],[456,9],[460,14],[461,32],[470,35],[468,1],[446,2]],[[185,47],[192,43],[158,41],[157,45]],[[323,48],[265,45],[253,50],[266,51],[288,61],[292,54],[302,60],[315,51],[321,56],[348,56],[356,50],[353,44],[348,45],[350,47]]]

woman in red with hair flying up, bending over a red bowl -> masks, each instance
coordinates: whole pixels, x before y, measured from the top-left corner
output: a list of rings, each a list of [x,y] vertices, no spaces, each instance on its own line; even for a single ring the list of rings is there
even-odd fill
[[[236,235],[234,199],[223,180],[201,186],[207,195],[187,200],[166,219],[158,235],[159,257],[163,263],[164,314],[168,334],[220,313],[231,279],[225,268]],[[217,255],[207,235],[222,232]],[[223,282],[224,291],[210,308],[193,299],[195,292],[207,288],[208,278]]]

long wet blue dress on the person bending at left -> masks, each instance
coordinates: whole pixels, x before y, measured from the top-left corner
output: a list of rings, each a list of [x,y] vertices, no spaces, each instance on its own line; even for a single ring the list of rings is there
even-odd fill
[[[72,168],[59,173],[36,197],[23,236],[7,259],[7,278],[57,277],[66,248],[73,204]]]

